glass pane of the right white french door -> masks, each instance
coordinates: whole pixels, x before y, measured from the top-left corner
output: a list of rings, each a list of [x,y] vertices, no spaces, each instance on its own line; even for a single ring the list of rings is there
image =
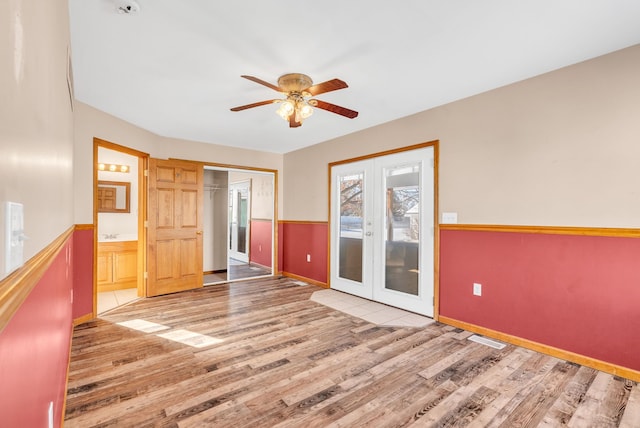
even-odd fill
[[[420,165],[385,169],[385,288],[418,295]]]

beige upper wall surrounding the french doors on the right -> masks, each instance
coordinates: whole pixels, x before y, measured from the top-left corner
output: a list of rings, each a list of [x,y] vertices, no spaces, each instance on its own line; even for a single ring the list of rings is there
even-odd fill
[[[439,140],[459,223],[640,227],[638,76],[640,45],[288,153],[284,218],[327,220],[328,163]]]

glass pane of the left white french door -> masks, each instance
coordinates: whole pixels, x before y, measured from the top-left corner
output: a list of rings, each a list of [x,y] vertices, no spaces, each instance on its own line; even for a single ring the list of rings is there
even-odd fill
[[[340,185],[340,259],[338,275],[362,282],[362,238],[364,210],[364,174],[339,177]]]

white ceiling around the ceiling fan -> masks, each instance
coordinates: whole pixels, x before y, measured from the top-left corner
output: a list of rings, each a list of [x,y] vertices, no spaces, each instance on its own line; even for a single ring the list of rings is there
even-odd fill
[[[637,0],[69,0],[79,101],[165,137],[286,153],[640,43]],[[349,88],[300,128],[240,78]],[[122,142],[124,143],[124,142]]]

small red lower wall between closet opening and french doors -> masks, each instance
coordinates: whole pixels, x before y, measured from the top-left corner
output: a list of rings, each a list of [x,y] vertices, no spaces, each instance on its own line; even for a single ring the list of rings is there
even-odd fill
[[[327,231],[326,222],[280,222],[278,227],[280,269],[287,274],[326,284]],[[307,261],[307,254],[310,261]]]

